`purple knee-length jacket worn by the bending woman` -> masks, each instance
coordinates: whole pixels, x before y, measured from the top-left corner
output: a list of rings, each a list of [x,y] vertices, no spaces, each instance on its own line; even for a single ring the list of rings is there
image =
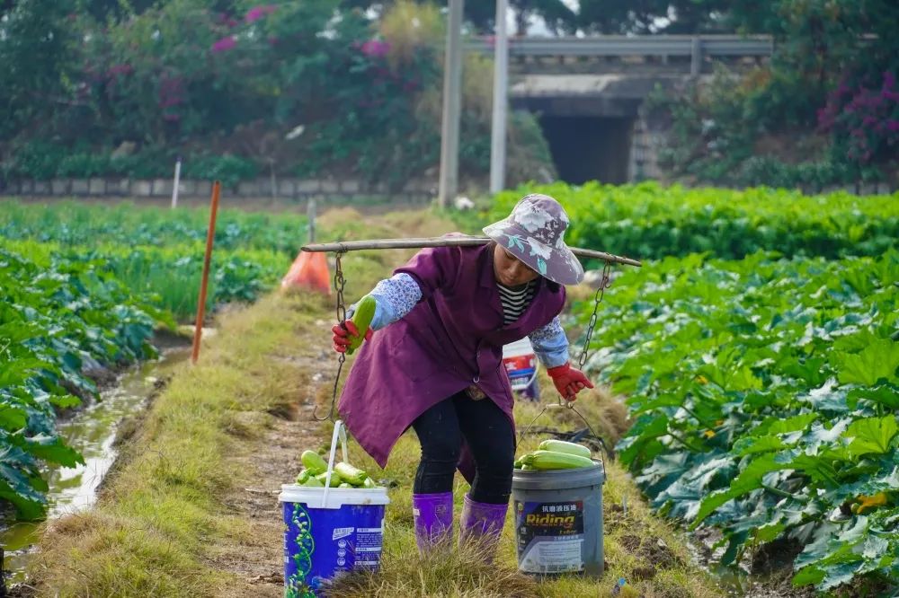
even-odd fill
[[[398,272],[414,277],[422,300],[362,344],[338,403],[381,467],[415,418],[473,383],[514,426],[503,345],[545,326],[565,304],[565,287],[541,277],[528,309],[503,326],[492,244],[425,249]]]

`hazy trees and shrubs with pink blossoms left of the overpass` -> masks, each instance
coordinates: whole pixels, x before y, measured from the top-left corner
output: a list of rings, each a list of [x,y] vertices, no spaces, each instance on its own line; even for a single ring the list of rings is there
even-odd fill
[[[159,176],[182,154],[185,172],[232,182],[271,170],[402,186],[438,162],[444,17],[411,0],[355,4],[9,4],[0,174]],[[492,69],[470,63],[462,165],[483,176]],[[533,117],[510,120],[512,171],[551,169]]]

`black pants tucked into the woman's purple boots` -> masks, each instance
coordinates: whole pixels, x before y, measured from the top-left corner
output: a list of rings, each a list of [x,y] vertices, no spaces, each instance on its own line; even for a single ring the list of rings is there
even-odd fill
[[[515,435],[509,418],[494,401],[471,400],[465,391],[458,392],[425,411],[412,427],[422,444],[415,494],[452,491],[464,438],[476,465],[471,499],[494,505],[509,501]]]

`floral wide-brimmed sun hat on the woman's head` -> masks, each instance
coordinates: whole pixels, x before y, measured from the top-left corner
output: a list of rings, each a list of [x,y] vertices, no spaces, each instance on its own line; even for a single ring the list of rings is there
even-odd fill
[[[530,268],[559,285],[583,280],[583,266],[565,245],[568,215],[555,199],[532,193],[508,218],[485,226],[488,237]]]

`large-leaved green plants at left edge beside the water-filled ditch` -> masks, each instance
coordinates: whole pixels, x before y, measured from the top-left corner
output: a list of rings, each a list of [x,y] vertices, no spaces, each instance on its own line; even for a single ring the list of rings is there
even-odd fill
[[[42,463],[84,462],[58,437],[55,409],[96,394],[85,366],[156,356],[147,339],[168,318],[95,260],[0,247],[0,288],[0,500],[35,519],[46,503]]]

